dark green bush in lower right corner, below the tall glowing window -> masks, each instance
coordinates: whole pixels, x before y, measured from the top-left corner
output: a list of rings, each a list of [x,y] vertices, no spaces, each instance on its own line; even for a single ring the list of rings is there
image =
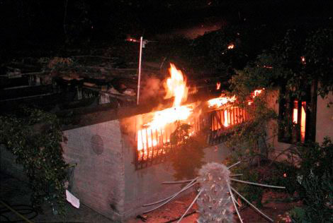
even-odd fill
[[[289,155],[298,162],[274,163],[265,183],[286,186],[288,193],[297,192],[303,207],[290,212],[295,222],[332,222],[333,208],[333,144],[326,138],[318,143],[298,144]],[[297,167],[295,167],[295,165]]]

